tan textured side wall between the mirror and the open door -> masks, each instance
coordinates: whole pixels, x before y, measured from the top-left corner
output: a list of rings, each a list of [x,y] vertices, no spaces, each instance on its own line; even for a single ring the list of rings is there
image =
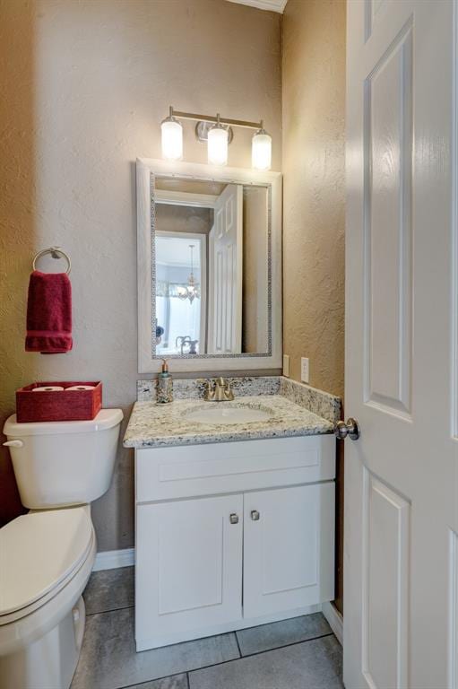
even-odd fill
[[[283,347],[300,380],[343,395],[345,3],[283,15]]]

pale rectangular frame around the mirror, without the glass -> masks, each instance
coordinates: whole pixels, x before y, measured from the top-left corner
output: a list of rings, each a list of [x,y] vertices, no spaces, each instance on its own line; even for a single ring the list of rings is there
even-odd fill
[[[266,371],[281,369],[281,173],[247,168],[219,168],[191,162],[169,162],[149,158],[136,161],[137,186],[137,276],[138,276],[138,372],[157,373],[161,357],[154,353],[155,311],[154,177],[205,179],[269,188],[270,196],[270,327],[268,353],[197,354],[169,357],[176,372]]]

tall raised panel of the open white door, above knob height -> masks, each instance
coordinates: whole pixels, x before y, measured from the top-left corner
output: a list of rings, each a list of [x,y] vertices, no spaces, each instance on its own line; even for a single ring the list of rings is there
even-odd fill
[[[412,27],[365,83],[366,399],[410,416]]]

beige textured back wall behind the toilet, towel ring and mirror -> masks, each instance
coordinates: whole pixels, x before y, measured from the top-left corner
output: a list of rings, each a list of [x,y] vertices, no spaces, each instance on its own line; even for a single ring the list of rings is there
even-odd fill
[[[281,17],[225,0],[0,0],[0,423],[33,379],[102,379],[129,413],[137,378],[134,161],[160,157],[169,104],[264,118],[281,164]],[[237,131],[229,164],[250,161]],[[186,126],[186,160],[206,150]],[[73,260],[72,353],[23,350],[33,253]],[[17,509],[0,459],[0,518]],[[133,455],[93,505],[99,549],[133,545]]]

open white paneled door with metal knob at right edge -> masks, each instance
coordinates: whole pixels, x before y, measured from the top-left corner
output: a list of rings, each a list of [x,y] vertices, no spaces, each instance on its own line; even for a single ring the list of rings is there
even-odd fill
[[[348,3],[346,689],[458,686],[455,21]]]

